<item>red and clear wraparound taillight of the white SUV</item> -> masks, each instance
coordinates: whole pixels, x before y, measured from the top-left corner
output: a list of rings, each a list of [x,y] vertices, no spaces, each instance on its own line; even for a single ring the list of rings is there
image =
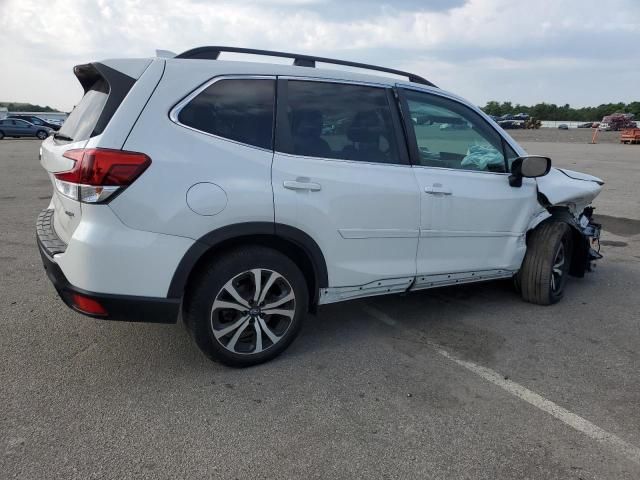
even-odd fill
[[[71,170],[53,174],[57,190],[87,203],[104,202],[131,185],[151,164],[144,153],[106,148],[73,149],[63,156],[75,164]]]

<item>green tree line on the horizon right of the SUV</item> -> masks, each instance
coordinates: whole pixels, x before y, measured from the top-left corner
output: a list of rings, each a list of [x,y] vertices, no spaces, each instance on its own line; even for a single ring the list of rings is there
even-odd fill
[[[511,102],[487,102],[482,110],[488,115],[500,117],[502,115],[515,115],[526,113],[539,120],[567,120],[576,122],[600,121],[605,115],[612,113],[633,113],[636,119],[640,119],[640,102],[631,103],[606,103],[597,107],[573,108],[568,103],[556,105],[555,103],[538,103],[533,106],[520,105]]]

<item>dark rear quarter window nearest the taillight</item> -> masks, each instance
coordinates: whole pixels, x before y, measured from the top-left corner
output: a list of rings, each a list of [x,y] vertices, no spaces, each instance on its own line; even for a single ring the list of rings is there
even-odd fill
[[[219,80],[178,114],[180,123],[237,142],[272,148],[275,80]]]

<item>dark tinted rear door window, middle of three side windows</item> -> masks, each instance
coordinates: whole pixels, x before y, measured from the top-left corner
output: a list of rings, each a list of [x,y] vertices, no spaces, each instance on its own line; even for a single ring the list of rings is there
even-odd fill
[[[290,80],[288,99],[288,153],[401,163],[385,89]]]

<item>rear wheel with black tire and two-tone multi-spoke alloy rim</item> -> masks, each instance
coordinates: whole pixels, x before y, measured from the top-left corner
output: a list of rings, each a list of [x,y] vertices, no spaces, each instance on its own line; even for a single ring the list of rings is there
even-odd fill
[[[220,255],[192,287],[185,302],[187,329],[209,358],[233,367],[282,353],[300,332],[309,303],[296,264],[258,246]]]

